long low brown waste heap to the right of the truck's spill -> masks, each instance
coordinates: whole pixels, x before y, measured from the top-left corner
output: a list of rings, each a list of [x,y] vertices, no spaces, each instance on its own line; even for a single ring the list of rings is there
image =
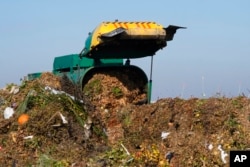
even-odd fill
[[[230,150],[250,149],[250,100],[244,96],[166,98],[119,115],[124,144],[146,166],[168,165],[168,153],[172,166],[228,166]]]

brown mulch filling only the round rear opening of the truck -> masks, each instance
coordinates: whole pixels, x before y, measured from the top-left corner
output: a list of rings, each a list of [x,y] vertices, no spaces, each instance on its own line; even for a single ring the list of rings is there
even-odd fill
[[[120,76],[117,77],[117,75]],[[97,107],[107,109],[145,100],[146,92],[141,90],[141,87],[145,87],[145,85],[136,85],[137,83],[122,75],[119,73],[112,75],[95,74],[85,85],[83,93]],[[119,78],[123,78],[123,80]]]

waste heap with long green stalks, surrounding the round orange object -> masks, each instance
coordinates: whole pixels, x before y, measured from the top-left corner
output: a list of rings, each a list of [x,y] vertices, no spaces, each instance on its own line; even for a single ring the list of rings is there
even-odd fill
[[[59,82],[53,75],[45,75],[26,81],[16,94],[0,90],[0,97],[6,101],[1,108],[16,103],[11,118],[4,119],[2,110],[0,115],[0,164],[4,166],[84,164],[85,157],[101,145],[92,145],[101,143],[96,142],[100,140],[98,136],[89,138],[84,104],[69,95],[45,89],[54,88],[51,84]],[[22,114],[29,116],[25,124],[18,123]]]

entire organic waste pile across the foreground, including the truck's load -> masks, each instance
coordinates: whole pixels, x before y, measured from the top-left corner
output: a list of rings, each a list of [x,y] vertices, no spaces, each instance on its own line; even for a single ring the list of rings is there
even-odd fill
[[[0,90],[0,166],[220,167],[230,150],[250,148],[244,95],[136,105],[145,95],[123,84],[97,74],[80,96],[69,80],[44,73],[7,85]]]

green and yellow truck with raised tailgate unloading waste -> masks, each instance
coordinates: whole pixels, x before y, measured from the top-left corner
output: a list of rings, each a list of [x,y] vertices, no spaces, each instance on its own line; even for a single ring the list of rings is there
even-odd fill
[[[93,96],[102,93],[102,89],[109,89],[103,96],[123,99],[122,103],[149,103],[153,61],[149,78],[130,61],[148,56],[153,60],[156,52],[166,47],[180,28],[185,27],[163,27],[149,21],[102,22],[88,34],[80,53],[54,58],[53,74],[67,76],[84,95],[94,100],[98,100]],[[35,79],[40,74],[29,74],[28,79]],[[105,78],[106,88],[103,88]],[[98,97],[100,100],[100,95]]]

